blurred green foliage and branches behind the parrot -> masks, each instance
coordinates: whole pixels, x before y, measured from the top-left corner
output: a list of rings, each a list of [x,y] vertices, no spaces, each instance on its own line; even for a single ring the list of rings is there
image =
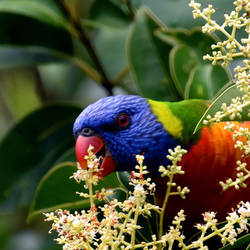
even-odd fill
[[[200,2],[218,23],[233,8]],[[86,105],[110,94],[212,99],[230,81],[230,68],[202,60],[218,39],[202,24],[186,0],[0,0],[1,250],[61,249],[42,216],[26,220],[52,207],[34,193],[74,161],[71,127]]]

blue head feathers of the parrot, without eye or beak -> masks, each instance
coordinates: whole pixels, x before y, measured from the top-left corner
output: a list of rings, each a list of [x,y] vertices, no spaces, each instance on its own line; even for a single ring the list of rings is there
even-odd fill
[[[121,113],[130,117],[130,125],[125,129],[117,126]],[[145,165],[151,174],[157,175],[158,167],[167,164],[168,149],[178,144],[157,121],[148,101],[139,96],[105,97],[89,105],[76,119],[74,135],[86,127],[103,139],[118,171],[134,170],[135,155],[143,153]]]

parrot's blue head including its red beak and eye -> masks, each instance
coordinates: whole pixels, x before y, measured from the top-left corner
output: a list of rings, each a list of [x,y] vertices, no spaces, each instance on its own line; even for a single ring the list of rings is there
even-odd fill
[[[144,164],[152,175],[167,163],[169,148],[177,142],[157,121],[146,99],[119,95],[100,99],[85,108],[74,123],[76,156],[84,165],[91,144],[102,155],[103,175],[113,170],[134,170],[135,155],[144,154]]]

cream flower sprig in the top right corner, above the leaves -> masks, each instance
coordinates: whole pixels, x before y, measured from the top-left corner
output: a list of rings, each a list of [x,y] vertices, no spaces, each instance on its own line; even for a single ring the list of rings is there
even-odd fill
[[[218,61],[222,61],[222,65],[227,65],[235,57],[250,56],[250,38],[242,38],[241,41],[236,40],[236,31],[239,29],[246,30],[246,33],[250,34],[250,23],[248,17],[249,13],[249,1],[237,0],[234,1],[235,10],[229,15],[224,14],[225,21],[222,25],[219,25],[215,20],[211,18],[211,15],[215,12],[212,5],[208,5],[207,8],[201,10],[201,4],[192,0],[189,4],[193,8],[193,17],[201,17],[206,20],[206,24],[202,27],[204,33],[212,33],[216,30],[222,32],[226,39],[223,42],[217,42],[212,45],[214,50],[211,55],[204,56],[204,59],[212,61],[212,64],[216,64]],[[231,32],[226,31],[226,27],[231,28]]]

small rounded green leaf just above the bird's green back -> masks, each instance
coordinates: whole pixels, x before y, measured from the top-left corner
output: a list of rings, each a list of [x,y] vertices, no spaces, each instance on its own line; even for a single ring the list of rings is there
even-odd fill
[[[185,99],[211,99],[228,82],[227,71],[210,64],[197,66],[190,74],[185,89]]]

